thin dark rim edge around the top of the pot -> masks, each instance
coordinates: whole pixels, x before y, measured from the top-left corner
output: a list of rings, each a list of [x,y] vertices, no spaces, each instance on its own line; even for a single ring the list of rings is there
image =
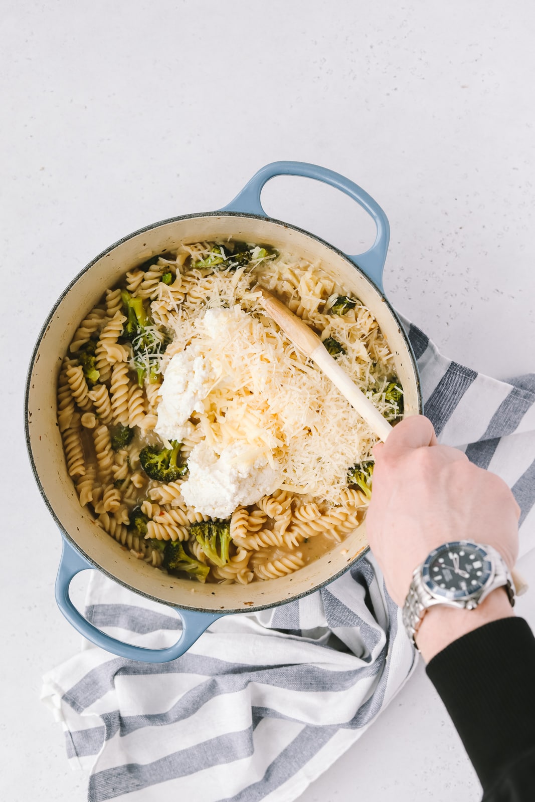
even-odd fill
[[[100,259],[105,257],[107,255],[107,253],[111,253],[112,250],[116,249],[119,245],[123,245],[124,242],[127,242],[128,240],[131,240],[133,237],[137,237],[139,234],[145,233],[147,231],[152,231],[153,229],[157,229],[162,225],[168,225],[169,223],[176,223],[178,221],[184,221],[184,220],[193,220],[193,219],[195,219],[197,217],[245,217],[245,218],[249,218],[249,219],[253,219],[253,220],[259,220],[259,221],[263,221],[263,222],[267,222],[267,223],[274,223],[276,225],[282,225],[286,229],[292,229],[294,231],[297,231],[298,233],[305,234],[307,237],[311,237],[315,241],[320,242],[327,249],[329,249],[333,253],[336,253],[336,255],[338,257],[342,257],[342,259],[344,259],[345,261],[349,262],[351,264],[352,268],[354,268],[356,270],[359,270],[359,273],[361,273],[362,276],[366,279],[366,281],[369,284],[371,284],[371,286],[373,287],[375,292],[379,294],[379,296],[381,298],[381,301],[383,303],[387,304],[388,310],[390,311],[392,316],[395,318],[395,321],[398,323],[399,334],[403,338],[403,342],[405,343],[405,346],[407,347],[407,351],[408,351],[408,353],[409,353],[409,355],[411,357],[411,360],[412,360],[414,368],[415,368],[416,394],[417,394],[417,397],[418,397],[418,411],[419,411],[420,415],[424,411],[424,404],[423,404],[423,400],[422,400],[422,392],[421,392],[421,384],[420,384],[420,379],[419,379],[418,363],[416,361],[414,351],[412,350],[411,342],[410,342],[410,340],[409,340],[409,338],[407,336],[407,332],[404,330],[403,325],[402,325],[401,321],[399,320],[398,314],[396,314],[394,308],[391,306],[391,303],[388,301],[388,299],[386,298],[385,294],[383,293],[383,290],[380,290],[379,287],[376,286],[375,283],[371,281],[371,278],[367,275],[367,273],[365,273],[363,269],[359,268],[359,265],[357,265],[357,263],[355,261],[353,261],[351,259],[351,257],[349,257],[347,255],[347,253],[344,253],[342,250],[337,248],[335,245],[331,245],[330,242],[327,242],[326,240],[322,239],[322,237],[318,237],[316,234],[314,234],[314,233],[312,233],[310,231],[307,231],[306,229],[300,228],[298,225],[293,225],[292,223],[287,223],[286,221],[278,220],[276,217],[268,217],[267,215],[261,215],[261,214],[255,214],[255,213],[246,213],[246,212],[233,212],[233,211],[197,212],[197,213],[193,213],[193,214],[179,215],[178,217],[168,217],[165,220],[160,220],[160,221],[157,221],[157,222],[152,223],[150,225],[145,225],[140,229],[136,229],[136,231],[133,231],[132,233],[126,235],[125,237],[121,237],[119,240],[114,242],[112,245],[109,245],[107,248],[105,248],[103,251],[101,251],[101,253],[99,253],[97,256],[95,256],[94,259],[91,259],[91,261],[89,261],[87,263],[87,265],[85,265],[85,267],[83,267],[83,269],[81,269],[79,271],[79,273],[76,273],[75,277],[71,280],[71,282],[69,282],[67,287],[59,295],[58,300],[55,302],[54,306],[52,306],[51,311],[47,315],[47,318],[45,319],[45,322],[43,322],[43,326],[39,330],[38,337],[36,339],[34,348],[32,350],[31,357],[30,357],[30,364],[29,364],[29,367],[28,367],[28,371],[26,373],[26,383],[25,383],[25,390],[24,390],[24,435],[25,435],[25,439],[26,439],[26,450],[28,452],[28,457],[30,459],[31,472],[34,475],[34,480],[35,480],[35,482],[36,482],[36,484],[37,484],[37,486],[39,488],[39,493],[41,494],[41,496],[43,498],[43,501],[44,501],[44,503],[45,503],[45,505],[47,507],[48,512],[51,513],[51,516],[52,516],[53,520],[55,521],[55,524],[58,527],[62,537],[65,538],[67,540],[67,542],[69,543],[69,545],[71,545],[79,554],[81,554],[82,557],[87,561],[87,563],[89,563],[93,568],[98,569],[105,576],[107,576],[112,581],[117,582],[119,585],[123,585],[124,588],[127,588],[128,590],[131,590],[132,593],[136,593],[137,595],[140,595],[140,596],[143,596],[144,598],[150,599],[152,602],[158,602],[159,604],[162,604],[164,606],[171,607],[173,610],[189,610],[189,611],[192,611],[192,612],[201,612],[201,613],[210,614],[210,613],[221,613],[221,607],[219,609],[215,609],[215,608],[207,609],[207,608],[193,607],[193,606],[189,606],[189,605],[176,606],[172,602],[166,602],[163,599],[160,599],[160,598],[158,598],[156,596],[152,596],[152,594],[150,594],[150,593],[145,593],[142,590],[134,588],[134,587],[132,587],[132,585],[129,585],[128,582],[125,582],[125,581],[119,579],[118,577],[114,576],[107,569],[103,568],[101,565],[99,565],[93,559],[91,559],[91,557],[89,557],[83,551],[83,549],[80,548],[78,543],[76,543],[76,541],[71,537],[71,535],[66,531],[66,529],[64,529],[63,525],[59,521],[58,516],[56,516],[54,508],[52,508],[52,506],[51,506],[51,504],[50,504],[50,502],[48,500],[47,494],[44,492],[43,485],[41,484],[41,480],[39,478],[39,472],[37,471],[37,468],[35,466],[34,456],[33,456],[33,452],[32,452],[32,449],[31,449],[30,425],[29,425],[29,415],[28,415],[28,413],[29,413],[28,404],[29,404],[30,389],[31,389],[30,380],[31,380],[32,372],[34,370],[35,358],[37,356],[37,353],[38,353],[38,350],[39,350],[39,346],[41,345],[41,341],[43,340],[44,334],[46,334],[46,332],[47,332],[47,328],[50,325],[51,319],[53,318],[53,316],[55,314],[55,310],[58,309],[59,305],[63,301],[63,298],[65,298],[67,296],[67,294],[71,291],[72,287],[75,286],[76,282],[79,281],[79,278],[82,277],[84,273],[87,273],[87,270],[91,269],[91,267],[93,265],[95,265],[96,262],[98,262]],[[265,605],[252,605],[252,606],[248,607],[246,610],[244,610],[243,608],[240,608],[238,610],[225,609],[225,610],[222,611],[222,614],[233,615],[233,614],[241,614],[241,613],[255,613],[255,612],[258,612],[260,610],[270,610],[270,609],[272,609],[274,607],[278,607],[278,606],[282,606],[282,605],[285,605],[285,604],[289,604],[290,602],[296,602],[296,601],[298,601],[298,599],[301,599],[303,597],[309,596],[310,593],[315,593],[317,590],[320,590],[320,589],[324,588],[326,585],[330,585],[331,582],[334,582],[336,579],[341,577],[344,573],[347,573],[347,571],[350,570],[353,567],[353,565],[356,565],[356,563],[358,563],[363,557],[365,557],[365,555],[369,551],[370,551],[370,546],[369,545],[365,546],[362,552],[360,552],[351,561],[348,561],[347,565],[344,568],[340,569],[333,576],[327,577],[325,581],[319,582],[317,585],[314,585],[313,588],[310,588],[308,590],[304,590],[304,591],[302,591],[302,593],[297,593],[295,596],[292,596],[290,599],[285,598],[285,599],[282,599],[279,602],[271,602],[270,604],[265,604]]]

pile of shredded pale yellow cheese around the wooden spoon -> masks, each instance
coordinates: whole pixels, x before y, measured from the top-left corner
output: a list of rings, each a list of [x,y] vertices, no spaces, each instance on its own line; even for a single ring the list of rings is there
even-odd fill
[[[201,357],[209,366],[202,383],[197,382],[195,410],[180,439],[192,448],[204,442],[217,453],[240,441],[250,448],[251,460],[262,456],[277,470],[281,488],[336,503],[347,488],[348,469],[371,456],[375,435],[330,379],[265,315],[259,294],[249,289],[253,279],[276,290],[322,339],[336,338],[346,350],[338,363],[388,413],[382,390],[393,361],[374,316],[359,303],[343,316],[330,314],[342,287],[318,265],[280,256],[269,269],[253,273],[177,274],[174,308],[164,304],[171,307],[165,325],[173,331],[164,375],[175,354]],[[155,320],[166,289],[162,286],[162,298],[153,304]]]

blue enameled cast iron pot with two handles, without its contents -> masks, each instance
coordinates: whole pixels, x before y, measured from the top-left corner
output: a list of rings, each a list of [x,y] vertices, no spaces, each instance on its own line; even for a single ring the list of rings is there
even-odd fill
[[[345,192],[373,217],[375,243],[366,253],[347,256],[313,234],[266,217],[260,194],[274,176],[314,178]],[[59,609],[81,634],[97,646],[126,658],[166,662],[180,657],[217,618],[229,613],[253,612],[290,602],[333,581],[367,551],[366,527],[351,533],[343,548],[332,549],[297,573],[251,585],[193,585],[168,577],[137,560],[103,532],[81,508],[63,456],[56,423],[56,386],[59,367],[79,322],[107,287],[127,270],[157,253],[172,252],[180,242],[225,240],[274,245],[310,260],[321,260],[348,294],[360,298],[375,314],[394,354],[403,385],[405,415],[422,411],[419,376],[414,354],[394,310],[383,295],[383,265],[390,229],[383,209],[357,184],[314,164],[282,161],[257,172],[225,209],[175,217],[148,225],[111,245],[82,270],[63,292],[39,334],[26,385],[26,442],[39,489],[63,536],[63,553],[55,585]],[[69,585],[79,571],[96,568],[135,593],[174,608],[182,619],[178,642],[167,649],[144,649],[104,634],[83,618],[69,597]],[[194,590],[194,593],[192,593]]]

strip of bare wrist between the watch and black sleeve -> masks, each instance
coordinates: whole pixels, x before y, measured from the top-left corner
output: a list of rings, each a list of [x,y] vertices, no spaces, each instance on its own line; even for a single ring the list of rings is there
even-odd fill
[[[426,610],[415,635],[415,642],[425,662],[457,638],[491,621],[514,615],[505,588],[496,588],[474,610],[456,610],[436,605]]]

